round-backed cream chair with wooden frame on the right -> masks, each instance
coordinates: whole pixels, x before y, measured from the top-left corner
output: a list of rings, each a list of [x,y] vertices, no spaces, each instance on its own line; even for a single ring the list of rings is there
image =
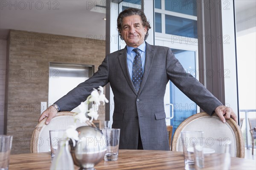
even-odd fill
[[[200,112],[190,116],[175,130],[172,138],[172,151],[183,151],[182,131],[204,131],[204,138],[198,139],[197,142],[203,142],[204,147],[209,148],[208,150],[224,153],[225,146],[229,145],[231,156],[244,158],[244,140],[241,129],[232,118],[222,123],[215,113],[210,116],[206,112]]]

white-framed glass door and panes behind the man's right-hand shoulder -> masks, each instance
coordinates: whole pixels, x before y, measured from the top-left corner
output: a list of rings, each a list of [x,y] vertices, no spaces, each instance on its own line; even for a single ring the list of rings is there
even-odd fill
[[[184,69],[198,78],[196,1],[162,0],[154,4],[155,45],[171,48]],[[199,107],[171,81],[166,86],[164,103],[166,125],[173,126],[173,133],[182,121],[199,112]]]

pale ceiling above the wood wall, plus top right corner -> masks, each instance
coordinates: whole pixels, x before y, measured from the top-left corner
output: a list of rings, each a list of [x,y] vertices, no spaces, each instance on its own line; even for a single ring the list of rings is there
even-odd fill
[[[105,38],[106,0],[0,0],[0,35],[9,29]],[[50,4],[49,4],[50,2]],[[255,6],[256,0],[235,0],[236,11]],[[226,4],[227,5],[227,4]]]

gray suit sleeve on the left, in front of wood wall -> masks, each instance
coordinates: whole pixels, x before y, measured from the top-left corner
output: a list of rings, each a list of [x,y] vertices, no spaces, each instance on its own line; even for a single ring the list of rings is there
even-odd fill
[[[109,72],[109,63],[108,63],[108,55],[102,61],[102,64],[99,66],[98,71],[93,74],[91,78],[82,82],[67,95],[64,95],[55,104],[58,105],[61,111],[70,111],[81,102],[85,101],[90,93],[93,91],[93,88],[98,88],[99,86],[105,86],[108,84],[108,72]]]

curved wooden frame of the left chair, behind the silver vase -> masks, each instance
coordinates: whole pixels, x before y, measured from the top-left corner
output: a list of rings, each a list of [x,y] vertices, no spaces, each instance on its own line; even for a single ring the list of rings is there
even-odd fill
[[[59,116],[74,116],[75,112],[58,112],[56,114],[56,117],[59,117]],[[45,124],[47,118],[44,118],[42,121],[40,121],[37,126],[35,127],[35,130],[33,131],[33,134],[32,134],[32,138],[31,138],[31,145],[30,145],[30,152],[31,153],[38,153],[38,146],[36,145],[36,140],[40,137],[39,134],[40,134],[40,131],[43,129],[44,126],[47,126]],[[92,126],[92,127],[96,127],[93,123],[87,121],[86,122],[89,126]]]

